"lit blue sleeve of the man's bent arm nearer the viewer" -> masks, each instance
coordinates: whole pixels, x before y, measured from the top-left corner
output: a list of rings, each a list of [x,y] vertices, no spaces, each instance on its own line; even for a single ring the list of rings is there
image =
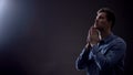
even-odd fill
[[[126,45],[123,42],[113,42],[111,44],[110,49],[108,50],[108,53],[104,55],[101,52],[98,52],[99,46],[94,45],[92,47],[92,58],[95,61],[96,65],[100,69],[104,69],[108,67],[114,66],[121,57],[123,57]]]

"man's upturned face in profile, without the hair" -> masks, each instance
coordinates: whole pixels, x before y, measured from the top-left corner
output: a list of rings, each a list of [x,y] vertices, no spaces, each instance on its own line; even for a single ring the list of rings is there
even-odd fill
[[[105,12],[98,13],[94,26],[99,30],[104,30],[104,29],[109,28],[109,21],[106,19]]]

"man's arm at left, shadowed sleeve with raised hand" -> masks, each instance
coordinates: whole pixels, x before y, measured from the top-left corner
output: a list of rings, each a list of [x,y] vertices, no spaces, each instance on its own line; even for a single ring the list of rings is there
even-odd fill
[[[92,33],[94,33],[94,34],[92,35]],[[91,26],[90,30],[89,30],[88,38],[86,38],[86,43],[88,44],[82,50],[82,53],[80,54],[80,56],[78,57],[78,60],[75,62],[75,66],[76,66],[78,69],[83,69],[86,66],[89,66],[90,63],[93,62],[93,60],[92,60],[92,52],[90,53],[90,51],[92,51],[91,46],[93,44],[95,44],[95,41],[100,41],[98,39],[98,36],[99,35],[98,35],[96,29],[94,26]]]

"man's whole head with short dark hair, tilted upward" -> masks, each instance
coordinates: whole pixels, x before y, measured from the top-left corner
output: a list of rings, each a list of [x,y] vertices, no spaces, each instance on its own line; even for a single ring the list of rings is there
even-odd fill
[[[109,8],[102,8],[98,11],[94,26],[99,30],[112,30],[115,23],[115,15]]]

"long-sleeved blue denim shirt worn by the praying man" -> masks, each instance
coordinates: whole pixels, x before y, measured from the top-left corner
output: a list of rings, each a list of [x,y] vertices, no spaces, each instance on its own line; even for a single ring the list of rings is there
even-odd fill
[[[125,42],[111,33],[93,47],[84,47],[75,66],[86,69],[88,75],[122,75],[125,50]]]

